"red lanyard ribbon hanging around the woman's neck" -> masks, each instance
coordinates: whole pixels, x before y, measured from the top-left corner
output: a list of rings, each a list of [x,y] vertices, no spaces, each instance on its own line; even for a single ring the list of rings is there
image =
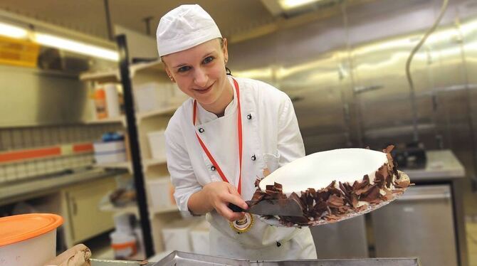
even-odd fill
[[[235,91],[237,93],[237,131],[239,132],[239,184],[237,186],[237,190],[239,191],[239,194],[241,193],[241,182],[242,182],[242,116],[241,116],[241,108],[240,108],[240,94],[239,94],[239,84],[234,80],[234,86],[235,86]],[[197,116],[197,101],[194,100],[194,116],[192,117],[192,122],[194,123],[194,126],[196,124],[196,116]],[[215,169],[217,172],[219,172],[220,177],[222,178],[223,181],[230,183],[229,180],[225,177],[224,172],[220,169],[219,164],[215,161],[214,157],[212,154],[209,152],[209,149],[205,146],[204,142],[202,142],[202,139],[199,137],[199,134],[196,132],[197,139],[199,140],[199,143],[204,150],[205,154],[207,154],[207,157],[209,157],[209,160],[212,162],[212,165],[214,165]]]

